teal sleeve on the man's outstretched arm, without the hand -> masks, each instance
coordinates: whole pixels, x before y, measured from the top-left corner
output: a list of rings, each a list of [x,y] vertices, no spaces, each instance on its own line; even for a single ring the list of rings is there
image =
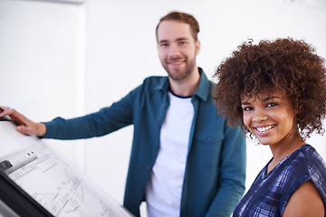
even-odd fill
[[[44,122],[46,133],[43,138],[80,139],[101,137],[132,124],[133,104],[139,88],[114,102],[110,107],[79,118],[54,118]]]

